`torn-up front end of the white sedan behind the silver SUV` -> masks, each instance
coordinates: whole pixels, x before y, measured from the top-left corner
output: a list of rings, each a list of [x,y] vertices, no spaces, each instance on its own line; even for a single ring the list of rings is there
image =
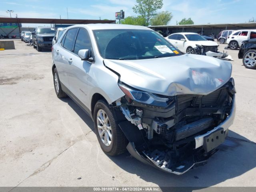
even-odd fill
[[[194,48],[194,53],[198,55],[206,55],[214,58],[218,58],[221,60],[234,61],[230,55],[226,53],[219,52],[218,46],[204,46],[204,45],[196,45]]]

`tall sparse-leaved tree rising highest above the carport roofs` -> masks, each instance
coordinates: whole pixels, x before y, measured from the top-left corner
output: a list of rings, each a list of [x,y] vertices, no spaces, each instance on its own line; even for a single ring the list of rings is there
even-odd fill
[[[163,0],[136,0],[136,3],[132,10],[146,20],[147,26],[152,16],[156,15],[156,11],[163,6]]]

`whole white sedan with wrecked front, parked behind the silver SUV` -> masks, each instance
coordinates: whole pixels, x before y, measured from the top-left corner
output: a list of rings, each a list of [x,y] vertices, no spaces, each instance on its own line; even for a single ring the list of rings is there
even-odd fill
[[[218,52],[218,43],[208,41],[197,33],[174,33],[167,36],[166,39],[184,53],[202,54],[223,60],[232,60],[230,55]]]

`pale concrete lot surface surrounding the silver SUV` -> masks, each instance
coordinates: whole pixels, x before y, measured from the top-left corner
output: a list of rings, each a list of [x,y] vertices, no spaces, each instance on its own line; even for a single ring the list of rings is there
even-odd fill
[[[50,50],[14,42],[0,51],[0,186],[256,186],[256,70],[238,50],[227,50],[237,91],[229,136],[208,164],[176,176],[104,154],[90,117],[56,97]]]

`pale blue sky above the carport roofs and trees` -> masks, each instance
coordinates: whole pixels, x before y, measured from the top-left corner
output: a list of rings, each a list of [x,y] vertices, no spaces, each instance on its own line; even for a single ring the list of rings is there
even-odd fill
[[[0,17],[10,16],[6,10],[14,10],[12,17],[110,19],[115,12],[124,10],[125,16],[136,16],[132,6],[136,0],[1,0]],[[195,24],[239,23],[256,18],[256,0],[163,0],[160,11],[170,11],[170,25],[182,18],[191,17]],[[23,26],[27,26],[24,24]],[[31,24],[30,24],[31,26]]]

